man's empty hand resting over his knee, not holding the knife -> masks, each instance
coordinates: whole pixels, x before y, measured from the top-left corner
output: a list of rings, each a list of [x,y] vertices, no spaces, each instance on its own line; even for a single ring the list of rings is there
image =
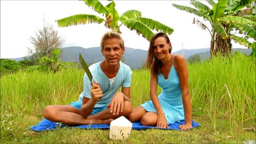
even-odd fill
[[[125,95],[122,92],[118,92],[115,94],[109,105],[107,105],[107,107],[110,108],[110,113],[112,113],[113,115],[118,115],[119,112],[123,112],[124,97]]]

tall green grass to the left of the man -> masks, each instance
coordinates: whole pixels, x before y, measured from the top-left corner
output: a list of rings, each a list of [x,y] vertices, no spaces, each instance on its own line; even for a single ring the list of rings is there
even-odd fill
[[[84,71],[68,69],[57,73],[18,71],[1,77],[1,112],[47,105],[69,104],[83,90]]]

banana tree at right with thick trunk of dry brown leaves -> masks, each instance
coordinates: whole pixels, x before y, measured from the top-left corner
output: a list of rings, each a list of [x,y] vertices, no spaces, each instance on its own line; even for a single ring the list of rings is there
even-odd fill
[[[191,1],[191,4],[194,5],[196,9],[177,4],[173,4],[173,6],[179,10],[193,13],[198,17],[202,17],[204,21],[210,22],[211,29],[202,21],[195,20],[195,18],[193,21],[194,24],[196,23],[202,29],[207,29],[211,34],[210,53],[212,57],[217,53],[221,53],[223,56],[231,54],[231,38],[234,38],[231,36],[230,32],[234,30],[235,25],[233,25],[233,23],[227,23],[225,20],[221,21],[218,19],[229,17],[234,14],[238,15],[238,13],[241,12],[241,9],[248,4],[251,4],[252,1],[253,0],[221,0],[215,3],[212,0],[206,0],[206,2],[212,6],[212,9],[196,0]]]

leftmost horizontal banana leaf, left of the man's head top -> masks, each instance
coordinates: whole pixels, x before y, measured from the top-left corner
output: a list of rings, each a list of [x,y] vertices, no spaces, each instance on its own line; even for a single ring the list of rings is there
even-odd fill
[[[84,25],[86,23],[102,23],[104,19],[91,14],[76,14],[57,20],[59,27]]]

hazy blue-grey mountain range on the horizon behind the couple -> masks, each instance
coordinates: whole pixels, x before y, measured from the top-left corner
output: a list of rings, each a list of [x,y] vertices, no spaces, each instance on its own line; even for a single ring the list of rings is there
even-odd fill
[[[83,58],[87,65],[91,65],[92,63],[102,61],[104,59],[101,53],[100,47],[90,47],[83,48],[79,46],[70,46],[63,47],[61,50],[60,58],[62,61],[70,61],[70,62],[78,62],[79,61],[79,53],[83,55]],[[183,54],[185,59],[188,59],[191,55],[200,54],[203,58],[209,59],[210,57],[210,48],[205,49],[192,49],[192,50],[183,50]],[[235,51],[239,51],[241,53],[247,53],[250,55],[252,49],[233,49],[233,53]],[[138,69],[142,66],[142,63],[146,60],[148,52],[146,50],[133,49],[131,47],[125,47],[125,53],[123,57],[123,62],[130,66],[131,69]],[[182,54],[182,50],[177,52],[173,52],[173,54]],[[11,60],[20,61],[22,58],[15,58]]]

